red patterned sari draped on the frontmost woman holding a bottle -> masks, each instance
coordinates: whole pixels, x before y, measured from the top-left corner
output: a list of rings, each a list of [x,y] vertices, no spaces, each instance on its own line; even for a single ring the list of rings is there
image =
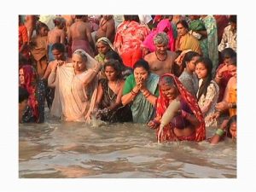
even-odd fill
[[[195,96],[192,96],[188,90],[186,90],[183,87],[183,84],[177,79],[176,76],[174,76],[171,73],[166,73],[160,77],[160,80],[166,76],[172,77],[174,79],[174,82],[177,85],[177,89],[180,93],[180,96],[182,97],[184,102],[187,102],[189,105],[189,108],[194,113],[196,119],[199,120],[199,125],[195,127],[195,134],[189,136],[189,137],[177,137],[175,133],[173,132],[174,127],[172,127],[171,123],[166,125],[163,129],[163,134],[160,137],[160,142],[164,141],[177,141],[177,140],[186,140],[186,141],[195,141],[195,142],[201,142],[202,140],[206,139],[206,126],[205,121],[203,118],[203,115],[201,113],[201,109],[199,108],[197,101],[195,99]],[[166,98],[163,95],[163,92],[160,90],[160,96],[158,97],[156,101],[156,116],[161,119],[163,114],[166,112],[166,108],[169,106],[169,99]],[[156,130],[156,136],[158,135],[158,132],[160,130],[160,127]]]

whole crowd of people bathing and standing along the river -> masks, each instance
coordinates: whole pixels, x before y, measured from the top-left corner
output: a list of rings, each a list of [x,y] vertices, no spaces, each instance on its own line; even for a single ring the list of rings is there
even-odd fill
[[[20,123],[49,108],[160,143],[236,140],[236,15],[19,15],[19,75]]]

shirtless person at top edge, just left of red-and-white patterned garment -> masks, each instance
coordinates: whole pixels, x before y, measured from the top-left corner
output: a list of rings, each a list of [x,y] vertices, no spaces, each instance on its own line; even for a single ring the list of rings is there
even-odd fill
[[[115,26],[114,26],[113,15],[103,15],[100,20],[99,29],[96,32],[95,40],[98,38],[108,38],[111,43],[113,43],[114,35],[115,35]]]

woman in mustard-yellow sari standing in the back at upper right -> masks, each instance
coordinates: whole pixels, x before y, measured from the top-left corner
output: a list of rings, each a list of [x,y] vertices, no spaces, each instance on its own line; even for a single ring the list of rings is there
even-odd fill
[[[175,42],[175,50],[191,49],[201,55],[201,47],[199,41],[189,34],[189,25],[186,20],[179,20],[176,24],[177,39]]]

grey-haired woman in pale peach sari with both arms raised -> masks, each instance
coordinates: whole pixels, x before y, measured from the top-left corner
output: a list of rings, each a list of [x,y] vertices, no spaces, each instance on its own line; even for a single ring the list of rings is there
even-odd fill
[[[48,84],[55,87],[51,114],[66,121],[90,120],[96,100],[96,75],[102,65],[83,49],[77,49],[72,63],[56,64],[49,74]]]

